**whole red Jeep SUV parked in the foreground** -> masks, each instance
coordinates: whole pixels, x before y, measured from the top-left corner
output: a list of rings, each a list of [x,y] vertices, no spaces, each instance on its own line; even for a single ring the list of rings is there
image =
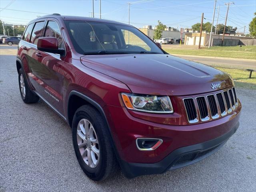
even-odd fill
[[[127,24],[42,16],[28,24],[16,66],[22,100],[43,100],[70,125],[93,180],[118,167],[133,178],[193,164],[239,125],[228,74],[172,56]]]

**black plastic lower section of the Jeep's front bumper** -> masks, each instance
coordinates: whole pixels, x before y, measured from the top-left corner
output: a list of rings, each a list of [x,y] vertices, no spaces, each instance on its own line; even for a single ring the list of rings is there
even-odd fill
[[[238,129],[239,122],[230,132],[207,142],[178,148],[171,152],[166,158],[157,163],[128,163],[122,161],[122,171],[128,178],[134,178],[141,175],[161,174],[168,170],[173,170],[196,163],[214,152],[218,151],[228,139]]]

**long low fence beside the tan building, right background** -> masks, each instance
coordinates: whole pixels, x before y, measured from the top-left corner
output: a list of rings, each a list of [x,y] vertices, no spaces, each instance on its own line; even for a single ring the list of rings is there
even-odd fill
[[[222,39],[212,39],[212,46],[221,46]],[[256,45],[256,39],[224,39],[222,46]]]

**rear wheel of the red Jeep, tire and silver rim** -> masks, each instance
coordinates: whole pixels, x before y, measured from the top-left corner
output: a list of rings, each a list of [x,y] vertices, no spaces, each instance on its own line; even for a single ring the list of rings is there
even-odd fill
[[[18,75],[19,75],[18,80],[19,80],[19,87],[20,87],[20,96],[24,101],[24,103],[38,102],[39,97],[30,90],[22,68],[20,68]]]

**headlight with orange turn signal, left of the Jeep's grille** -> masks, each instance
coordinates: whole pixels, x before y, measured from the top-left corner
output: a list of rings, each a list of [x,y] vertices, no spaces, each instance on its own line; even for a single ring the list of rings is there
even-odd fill
[[[122,93],[122,99],[128,109],[148,113],[173,113],[168,96],[153,96]]]

